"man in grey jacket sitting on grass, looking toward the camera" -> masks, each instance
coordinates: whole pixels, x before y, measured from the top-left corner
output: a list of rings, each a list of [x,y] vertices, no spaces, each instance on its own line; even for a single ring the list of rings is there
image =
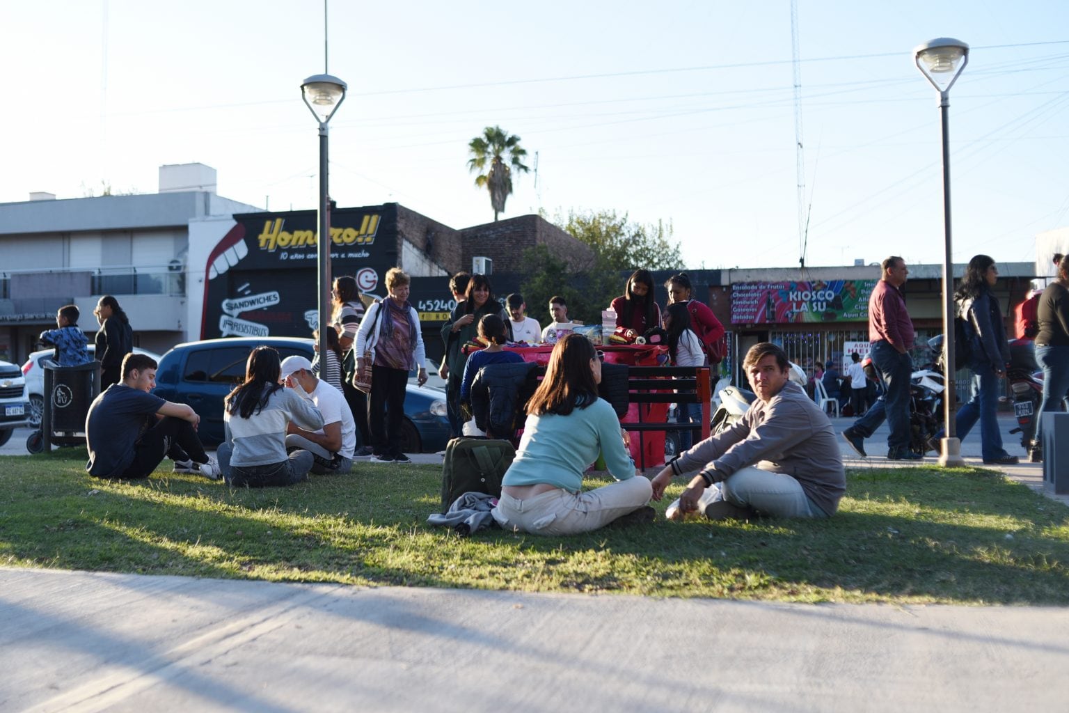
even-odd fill
[[[652,480],[653,499],[673,475],[700,468],[679,499],[680,517],[696,510],[709,520],[834,515],[847,481],[827,415],[789,381],[787,354],[775,344],[752,346],[743,369],[757,401],[738,423],[666,465]]]

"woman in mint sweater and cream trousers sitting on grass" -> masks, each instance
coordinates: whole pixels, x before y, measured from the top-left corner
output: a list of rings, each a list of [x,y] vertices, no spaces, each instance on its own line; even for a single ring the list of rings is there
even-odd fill
[[[527,402],[520,450],[501,481],[493,510],[501,527],[573,534],[624,515],[653,520],[650,481],[635,469],[613,407],[598,397],[600,382],[601,361],[586,337],[557,342],[545,378]],[[599,454],[618,482],[584,493],[583,474]]]

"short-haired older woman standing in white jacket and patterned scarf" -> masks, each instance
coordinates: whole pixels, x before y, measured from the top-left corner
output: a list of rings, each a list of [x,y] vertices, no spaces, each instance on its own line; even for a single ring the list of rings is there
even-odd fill
[[[353,347],[357,374],[362,373],[365,361],[371,359],[368,424],[374,450],[371,460],[377,463],[412,463],[401,451],[408,372],[418,369],[419,385],[427,383],[419,314],[408,304],[410,282],[397,267],[386,273],[388,296],[368,308]]]

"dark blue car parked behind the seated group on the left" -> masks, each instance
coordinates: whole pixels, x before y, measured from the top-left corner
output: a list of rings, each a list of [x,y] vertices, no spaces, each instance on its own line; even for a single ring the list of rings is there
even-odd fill
[[[283,359],[296,354],[311,360],[315,355],[312,344],[311,339],[299,337],[224,337],[177,344],[159,360],[153,393],[192,406],[201,417],[198,428],[201,440],[216,446],[224,437],[222,400],[244,381],[249,352],[261,345],[274,346]],[[444,392],[409,384],[404,412],[403,451],[445,450],[449,443],[449,419]]]

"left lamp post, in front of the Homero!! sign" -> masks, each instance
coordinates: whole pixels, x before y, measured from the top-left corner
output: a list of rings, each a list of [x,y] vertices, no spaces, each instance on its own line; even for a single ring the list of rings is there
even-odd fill
[[[320,123],[320,229],[316,233],[319,267],[320,360],[326,359],[327,325],[330,324],[330,191],[327,181],[327,122],[345,100],[345,82],[328,74],[312,75],[300,86],[305,104]],[[321,374],[326,372],[321,371]]]

